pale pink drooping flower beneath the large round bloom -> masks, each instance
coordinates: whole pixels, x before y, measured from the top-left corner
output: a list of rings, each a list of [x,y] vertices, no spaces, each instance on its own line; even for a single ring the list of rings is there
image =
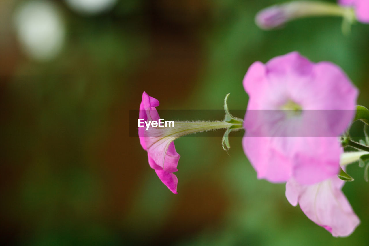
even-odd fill
[[[300,204],[305,215],[332,236],[345,237],[360,220],[341,191],[344,183],[337,175],[314,185],[300,185],[292,178],[286,183],[286,197],[293,206]]]

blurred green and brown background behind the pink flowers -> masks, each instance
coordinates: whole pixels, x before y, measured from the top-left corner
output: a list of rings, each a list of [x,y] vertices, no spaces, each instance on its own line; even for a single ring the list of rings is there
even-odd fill
[[[122,0],[95,14],[50,1],[66,34],[42,61],[14,27],[27,1],[0,1],[1,242],[369,245],[369,184],[357,165],[343,191],[361,225],[337,239],[287,202],[284,184],[256,179],[240,137],[229,155],[221,137],[176,140],[174,195],[128,131],[144,90],[159,113],[222,109],[227,93],[230,109],[245,109],[248,67],[291,51],[341,66],[369,106],[369,25],[344,36],[340,18],[324,17],[260,30],[256,12],[279,0]]]

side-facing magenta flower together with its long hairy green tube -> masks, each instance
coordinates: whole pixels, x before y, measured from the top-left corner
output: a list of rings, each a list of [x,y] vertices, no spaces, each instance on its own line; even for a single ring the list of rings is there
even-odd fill
[[[146,92],[142,93],[139,119],[143,119],[144,121],[158,121],[160,117],[156,110],[157,106],[159,106],[159,101],[157,99],[152,98]],[[226,111],[226,116],[228,115],[227,112],[228,110]],[[178,180],[173,172],[178,171],[177,164],[180,158],[173,141],[181,136],[200,131],[222,128],[230,129],[231,127],[232,129],[242,129],[242,120],[236,118],[227,119],[222,122],[175,122],[174,127],[171,128],[148,127],[147,130],[145,127],[138,128],[139,141],[142,148],[147,151],[150,167],[155,170],[160,180],[170,191],[177,194]]]

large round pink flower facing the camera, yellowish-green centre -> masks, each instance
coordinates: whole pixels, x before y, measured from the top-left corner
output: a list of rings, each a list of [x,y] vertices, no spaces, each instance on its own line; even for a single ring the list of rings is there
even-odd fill
[[[242,145],[258,178],[314,184],[338,173],[337,137],[354,117],[358,90],[337,65],[292,52],[255,62],[243,83]]]

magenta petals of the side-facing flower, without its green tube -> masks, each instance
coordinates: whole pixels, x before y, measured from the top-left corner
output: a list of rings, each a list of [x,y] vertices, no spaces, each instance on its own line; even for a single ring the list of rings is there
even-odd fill
[[[159,106],[159,101],[149,96],[146,92],[142,93],[142,101],[139,106],[139,118],[147,120],[159,119],[158,111],[155,107]],[[173,172],[178,171],[177,164],[180,155],[174,147],[173,140],[163,137],[160,134],[165,129],[149,127],[138,128],[139,141],[142,148],[147,151],[150,167],[153,168],[160,180],[172,191],[177,194],[177,177]]]

